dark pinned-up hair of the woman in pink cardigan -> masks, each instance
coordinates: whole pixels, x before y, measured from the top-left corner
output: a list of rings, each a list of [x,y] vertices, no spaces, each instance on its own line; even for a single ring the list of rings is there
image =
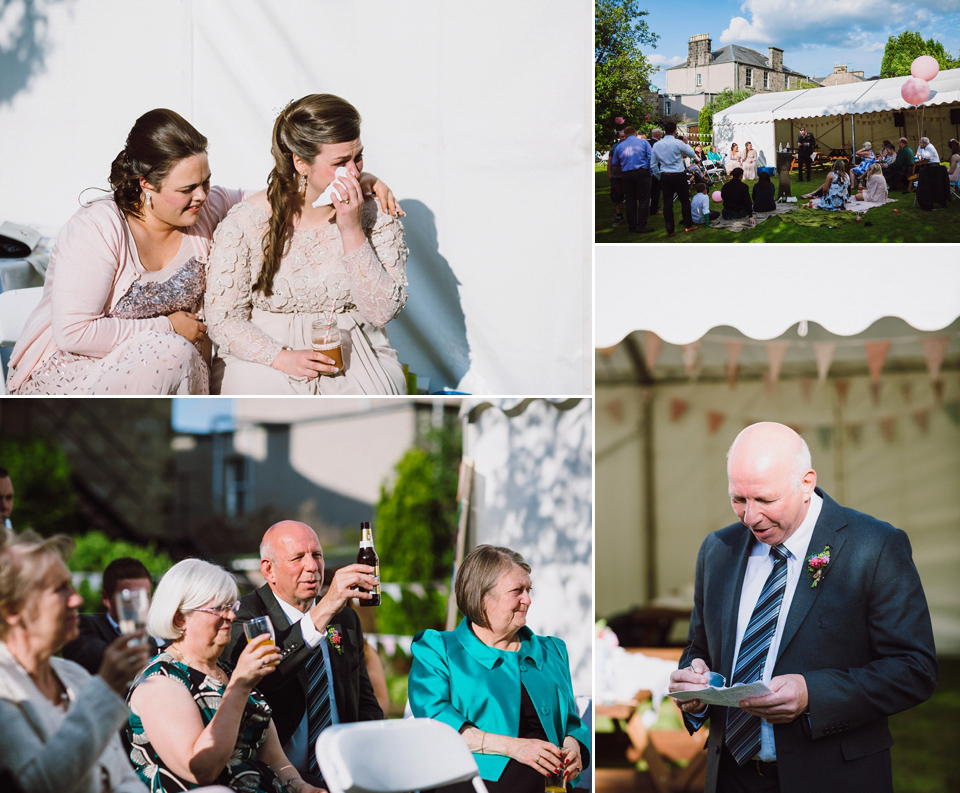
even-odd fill
[[[159,190],[178,162],[206,153],[207,139],[183,116],[163,108],[144,113],[110,166],[110,186],[120,211],[142,220],[141,177]]]

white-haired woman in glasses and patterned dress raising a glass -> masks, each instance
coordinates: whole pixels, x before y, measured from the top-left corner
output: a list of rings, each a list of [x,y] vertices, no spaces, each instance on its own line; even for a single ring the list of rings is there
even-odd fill
[[[237,595],[230,573],[199,559],[178,562],[161,579],[148,630],[171,643],[127,697],[130,759],[153,792],[216,782],[239,791],[320,793],[287,760],[255,688],[280,660],[274,644],[261,643],[269,636],[251,641],[236,667],[220,661]]]

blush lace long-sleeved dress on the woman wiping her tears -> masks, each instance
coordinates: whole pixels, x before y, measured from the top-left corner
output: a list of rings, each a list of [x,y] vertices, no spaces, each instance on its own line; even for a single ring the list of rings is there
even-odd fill
[[[206,321],[219,345],[221,394],[403,394],[406,380],[384,325],[407,299],[407,246],[400,221],[364,203],[367,242],[349,254],[336,223],[295,231],[273,281],[254,292],[263,266],[267,213],[237,204],[214,235],[207,268]],[[335,308],[334,308],[335,306]],[[334,310],[343,371],[294,377],[271,367],[284,348],[310,349],[314,320]]]

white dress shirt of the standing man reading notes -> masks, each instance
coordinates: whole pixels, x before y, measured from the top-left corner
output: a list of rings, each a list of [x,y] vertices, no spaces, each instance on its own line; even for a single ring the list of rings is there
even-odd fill
[[[763,665],[763,674],[760,679],[764,683],[769,683],[770,678],[773,677],[773,667],[780,650],[780,639],[783,637],[783,626],[786,624],[794,592],[806,566],[810,538],[813,536],[813,527],[817,525],[817,518],[820,517],[822,507],[823,499],[813,493],[810,496],[810,506],[807,509],[806,516],[797,530],[783,543],[783,547],[788,552],[787,585],[783,592],[783,602],[780,604],[777,630],[773,634],[770,650]],[[814,549],[813,553],[819,553],[819,549]],[[747,630],[753,609],[757,605],[757,598],[760,597],[760,592],[763,590],[763,585],[772,569],[773,559],[770,556],[770,546],[759,540],[754,540],[753,547],[750,549],[750,558],[747,560],[747,572],[743,577],[743,588],[740,590],[740,611],[737,614],[737,646],[733,653],[734,669],[737,668],[737,657],[740,655],[740,642],[743,640],[743,634]],[[807,586],[811,583],[812,581],[808,581]],[[758,757],[765,763],[772,763],[777,759],[777,749],[773,742],[773,725],[766,721],[760,722],[760,753]]]

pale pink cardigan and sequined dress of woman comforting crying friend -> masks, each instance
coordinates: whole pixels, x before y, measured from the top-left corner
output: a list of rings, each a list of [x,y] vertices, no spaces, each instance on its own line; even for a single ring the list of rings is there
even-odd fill
[[[157,272],[140,263],[112,197],[80,209],[57,238],[43,297],[14,347],[10,393],[209,393],[206,363],[167,315],[201,308],[213,230],[241,197],[213,188]]]

